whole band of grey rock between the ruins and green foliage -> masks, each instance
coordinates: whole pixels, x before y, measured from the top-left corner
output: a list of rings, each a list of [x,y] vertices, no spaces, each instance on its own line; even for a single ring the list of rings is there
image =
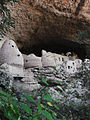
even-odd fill
[[[48,86],[43,83],[42,78],[48,82]],[[24,70],[24,77],[11,76],[0,67],[0,85],[29,94],[34,91],[38,94],[39,89],[44,87],[54,100],[58,99],[66,104],[68,101],[81,106],[90,105],[90,70],[85,65],[74,75],[67,74],[62,65],[56,69],[29,68]]]

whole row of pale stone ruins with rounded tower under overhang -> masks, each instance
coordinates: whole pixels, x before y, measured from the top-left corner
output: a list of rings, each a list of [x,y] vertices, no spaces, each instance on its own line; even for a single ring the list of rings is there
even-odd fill
[[[79,69],[82,67],[82,60],[75,59],[75,57],[70,55],[70,52],[65,56],[46,52],[45,50],[42,50],[42,57],[37,57],[34,54],[25,55],[19,51],[13,40],[6,40],[0,48],[0,67],[4,68],[5,72],[15,77],[15,79],[19,77],[25,83],[15,81],[16,86],[19,85],[21,88],[26,86],[25,89],[28,89],[29,87],[27,86],[29,84],[34,86],[37,84],[39,88],[40,85],[34,77],[37,75],[36,73],[34,74],[32,69],[63,68],[63,71],[68,75],[79,72]],[[87,69],[90,69],[89,59],[85,60],[85,64]],[[61,68],[60,66],[63,67]]]

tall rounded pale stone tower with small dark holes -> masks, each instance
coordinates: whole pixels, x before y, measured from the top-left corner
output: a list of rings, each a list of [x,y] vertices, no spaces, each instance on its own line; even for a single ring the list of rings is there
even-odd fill
[[[6,71],[12,75],[23,75],[23,56],[13,40],[6,40],[0,49],[0,65],[8,64]]]

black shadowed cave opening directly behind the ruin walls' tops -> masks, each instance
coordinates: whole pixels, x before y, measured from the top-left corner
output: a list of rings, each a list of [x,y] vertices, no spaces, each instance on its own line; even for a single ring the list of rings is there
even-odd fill
[[[47,42],[44,42],[44,40],[41,41],[43,42],[40,42],[39,44],[36,43],[32,46],[30,45],[31,47],[22,47],[21,52],[27,55],[34,53],[36,56],[41,57],[41,51],[46,50],[47,52],[53,52],[57,54],[64,53],[64,55],[66,55],[67,52],[75,53],[82,60],[84,60],[86,57],[85,46],[79,43],[64,39],[60,41],[58,39],[49,39]]]

